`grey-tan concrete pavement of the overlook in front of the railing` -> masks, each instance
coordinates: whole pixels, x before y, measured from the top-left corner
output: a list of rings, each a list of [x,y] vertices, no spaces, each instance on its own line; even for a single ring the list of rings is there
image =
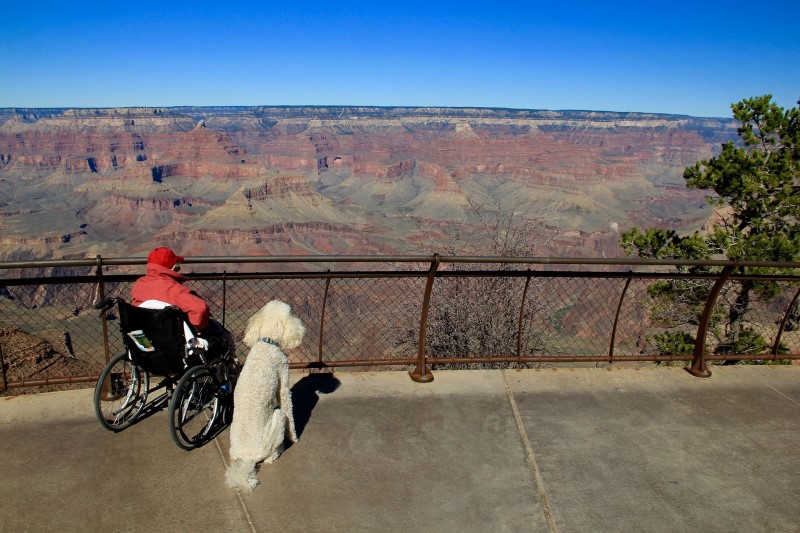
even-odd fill
[[[228,431],[0,398],[0,531],[798,531],[800,366],[294,375],[300,441],[238,494]]]

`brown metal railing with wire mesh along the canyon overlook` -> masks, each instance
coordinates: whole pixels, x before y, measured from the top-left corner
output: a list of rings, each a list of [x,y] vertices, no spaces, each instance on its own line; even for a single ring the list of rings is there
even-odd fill
[[[3,390],[90,382],[122,351],[113,311],[94,302],[127,298],[141,258],[0,263]],[[674,267],[700,266],[703,274]],[[743,269],[773,274],[743,275]],[[247,318],[271,299],[306,323],[294,369],[431,368],[685,361],[708,376],[708,361],[800,359],[800,263],[440,256],[274,256],[187,258],[189,284],[240,341]],[[765,270],[767,269],[767,270]],[[220,272],[221,270],[221,272]],[[746,271],[746,270],[744,270]],[[693,280],[708,291],[699,321],[681,331],[692,353],[659,353],[669,330],[649,319],[655,281]],[[759,353],[718,353],[712,317],[725,288],[752,281],[779,287],[753,301],[748,328],[768,340]],[[673,328],[674,329],[674,328]],[[238,355],[246,356],[238,342]]]

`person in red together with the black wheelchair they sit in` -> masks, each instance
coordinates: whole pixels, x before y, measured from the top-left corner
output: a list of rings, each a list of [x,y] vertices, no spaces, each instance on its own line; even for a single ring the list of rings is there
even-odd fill
[[[148,396],[165,389],[160,398],[169,403],[172,440],[191,450],[230,423],[242,365],[233,336],[184,285],[182,261],[169,248],[156,248],[147,258],[147,273],[131,289],[131,303],[120,297],[95,303],[102,313],[117,306],[126,350],[100,373],[94,407],[104,428],[121,431],[137,420]],[[151,387],[151,376],[163,379]]]

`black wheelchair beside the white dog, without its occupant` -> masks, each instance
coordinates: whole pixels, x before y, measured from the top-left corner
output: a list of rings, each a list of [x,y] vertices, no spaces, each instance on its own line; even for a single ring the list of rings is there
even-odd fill
[[[175,444],[192,450],[213,439],[232,414],[240,370],[233,338],[215,323],[219,335],[201,339],[176,307],[147,309],[109,298],[95,308],[107,313],[115,304],[125,351],[97,380],[94,407],[100,424],[122,431],[143,413],[148,395],[164,388]],[[153,377],[163,379],[151,389]]]

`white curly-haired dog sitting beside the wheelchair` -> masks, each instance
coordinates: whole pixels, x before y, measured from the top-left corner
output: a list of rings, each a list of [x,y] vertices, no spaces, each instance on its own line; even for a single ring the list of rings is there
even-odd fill
[[[275,461],[284,439],[297,442],[283,350],[299,346],[305,332],[291,308],[278,300],[247,322],[243,341],[250,353],[233,393],[231,464],[225,473],[231,488],[252,491],[258,485],[256,465]]]

